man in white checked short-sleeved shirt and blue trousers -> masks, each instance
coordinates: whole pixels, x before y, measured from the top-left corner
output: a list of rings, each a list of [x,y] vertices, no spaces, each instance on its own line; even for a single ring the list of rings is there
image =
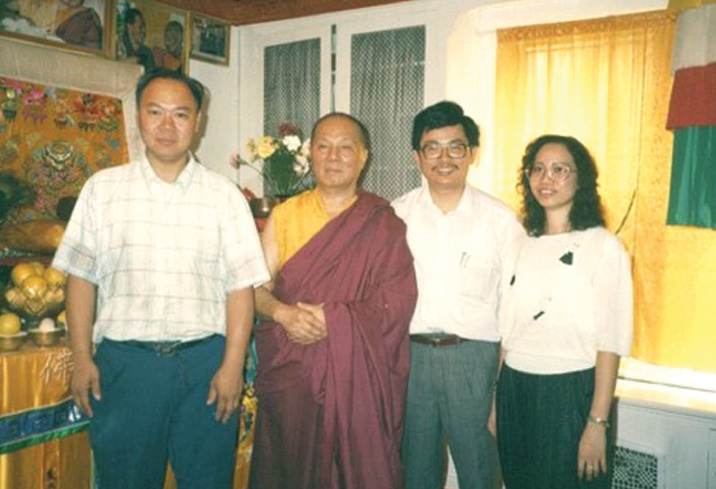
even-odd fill
[[[189,151],[203,93],[181,73],[139,80],[145,154],[87,181],[55,255],[102,489],[161,488],[167,460],[179,489],[231,485],[253,287],[270,277],[246,201]]]

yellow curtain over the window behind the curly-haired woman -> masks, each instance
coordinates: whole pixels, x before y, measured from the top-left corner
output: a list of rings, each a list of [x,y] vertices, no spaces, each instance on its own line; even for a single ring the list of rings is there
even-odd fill
[[[569,134],[593,153],[607,224],[633,259],[634,357],[716,371],[716,234],[666,226],[674,15],[498,32],[494,189],[514,208],[525,145]]]

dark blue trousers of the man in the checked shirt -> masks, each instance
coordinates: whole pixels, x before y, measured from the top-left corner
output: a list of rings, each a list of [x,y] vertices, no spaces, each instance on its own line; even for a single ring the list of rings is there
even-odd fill
[[[171,462],[178,489],[230,489],[238,416],[226,424],[206,405],[225,338],[163,355],[104,340],[95,362],[102,399],[92,401],[90,441],[98,489],[161,489]]]

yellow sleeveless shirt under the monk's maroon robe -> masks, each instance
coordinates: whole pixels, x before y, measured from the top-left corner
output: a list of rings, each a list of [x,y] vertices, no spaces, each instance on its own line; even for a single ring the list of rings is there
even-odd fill
[[[349,199],[341,212],[353,202],[355,198]],[[279,269],[331,220],[318,189],[308,190],[277,205],[271,218],[278,245]]]

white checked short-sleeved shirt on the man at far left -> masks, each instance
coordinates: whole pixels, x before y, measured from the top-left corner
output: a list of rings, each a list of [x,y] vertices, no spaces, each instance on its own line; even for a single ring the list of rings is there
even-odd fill
[[[95,173],[53,266],[97,285],[95,342],[225,334],[227,294],[269,280],[246,199],[193,158],[174,183],[146,157]]]

